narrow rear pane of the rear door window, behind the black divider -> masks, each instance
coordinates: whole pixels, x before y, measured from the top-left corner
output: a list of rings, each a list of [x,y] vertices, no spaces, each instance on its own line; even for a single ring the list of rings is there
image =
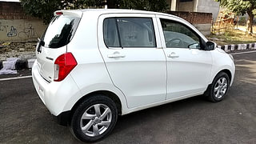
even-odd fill
[[[115,18],[106,18],[103,22],[104,42],[108,47],[120,47]]]

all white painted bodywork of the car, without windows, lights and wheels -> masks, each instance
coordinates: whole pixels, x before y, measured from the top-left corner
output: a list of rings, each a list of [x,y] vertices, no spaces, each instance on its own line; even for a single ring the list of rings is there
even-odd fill
[[[141,10],[60,11],[66,11],[64,14],[72,11],[70,14],[77,13],[82,16],[74,38],[60,49],[42,49],[42,54],[38,55],[38,61],[34,62],[32,68],[35,89],[51,114],[56,116],[71,110],[76,102],[87,94],[99,90],[116,94],[122,105],[121,114],[129,114],[202,94],[221,70],[230,70],[232,76],[230,85],[234,80],[234,62],[222,50],[217,48],[210,51],[178,48],[168,50],[166,48],[158,18],[182,22],[207,42],[207,39],[194,26],[182,18]],[[102,36],[102,21],[112,16],[153,18],[157,47],[108,49]],[[53,76],[51,70],[54,70],[55,59],[66,52],[74,55],[78,65],[62,82],[50,81],[49,76]],[[124,54],[125,57],[108,58],[109,54],[115,52]],[[167,58],[172,52],[179,54],[180,57]],[[50,61],[50,65],[44,67],[42,58],[46,57],[53,60]],[[180,65],[182,67],[179,67]],[[38,66],[44,68],[43,74],[40,74]],[[190,72],[191,75],[186,75],[186,72]],[[180,75],[175,77],[176,74]],[[42,75],[50,82],[46,82]]]

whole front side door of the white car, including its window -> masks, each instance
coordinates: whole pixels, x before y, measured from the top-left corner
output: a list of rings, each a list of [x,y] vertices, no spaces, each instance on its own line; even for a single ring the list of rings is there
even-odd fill
[[[210,81],[212,56],[194,28],[175,18],[159,17],[167,58],[166,99],[202,94]]]

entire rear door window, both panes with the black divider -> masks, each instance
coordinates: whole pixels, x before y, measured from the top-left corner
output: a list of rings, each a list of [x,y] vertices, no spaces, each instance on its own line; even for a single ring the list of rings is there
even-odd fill
[[[152,18],[106,18],[103,36],[107,47],[156,47]]]

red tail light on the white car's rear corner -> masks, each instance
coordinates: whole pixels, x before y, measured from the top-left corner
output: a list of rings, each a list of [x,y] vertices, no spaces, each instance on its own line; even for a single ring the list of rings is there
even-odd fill
[[[77,65],[78,63],[72,53],[60,55],[54,62],[54,81],[62,81]]]

